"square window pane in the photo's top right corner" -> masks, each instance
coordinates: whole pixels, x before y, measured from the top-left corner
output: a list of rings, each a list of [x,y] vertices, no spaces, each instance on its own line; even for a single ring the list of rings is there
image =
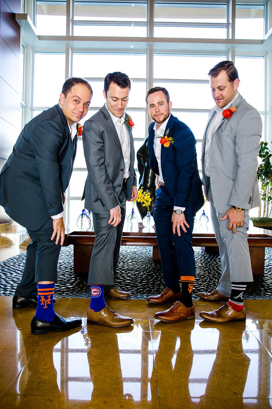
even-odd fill
[[[235,38],[258,39],[264,36],[264,6],[236,4]]]

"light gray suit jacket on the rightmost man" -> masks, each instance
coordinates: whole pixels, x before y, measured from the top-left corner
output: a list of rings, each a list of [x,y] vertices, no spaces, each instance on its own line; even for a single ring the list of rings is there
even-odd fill
[[[210,146],[210,184],[215,208],[225,213],[231,206],[252,209],[261,204],[257,178],[258,155],[262,133],[259,112],[241,95],[234,105],[236,112],[223,119],[212,137]],[[202,142],[202,180],[209,189],[205,175],[206,132],[216,111],[212,108]]]

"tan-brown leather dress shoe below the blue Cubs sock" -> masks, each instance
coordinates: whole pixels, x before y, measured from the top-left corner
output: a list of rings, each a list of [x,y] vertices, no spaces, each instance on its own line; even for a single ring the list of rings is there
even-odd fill
[[[117,314],[106,304],[102,310],[97,312],[89,308],[87,312],[87,322],[102,324],[112,328],[120,328],[131,325],[134,321],[132,318]]]

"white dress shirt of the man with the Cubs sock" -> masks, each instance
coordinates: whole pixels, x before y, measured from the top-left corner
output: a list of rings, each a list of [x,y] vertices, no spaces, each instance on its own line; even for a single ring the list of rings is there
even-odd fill
[[[119,118],[119,117],[115,117],[108,110],[108,108],[107,108],[107,111],[111,115],[111,119],[113,120],[113,124],[115,126],[115,129],[116,129],[116,132],[119,137],[120,144],[121,144],[124,163],[125,163],[124,179],[128,179],[129,178],[129,167],[130,167],[130,137],[128,134],[128,129],[125,124],[126,114],[124,113],[124,115],[122,115],[122,117]]]

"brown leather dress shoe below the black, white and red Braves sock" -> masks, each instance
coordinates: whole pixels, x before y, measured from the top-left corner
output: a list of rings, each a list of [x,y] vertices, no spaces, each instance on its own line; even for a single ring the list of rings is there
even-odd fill
[[[212,312],[200,312],[200,317],[210,322],[221,324],[229,321],[244,321],[246,318],[245,307],[241,311],[235,311],[228,303],[222,303],[218,310]]]

